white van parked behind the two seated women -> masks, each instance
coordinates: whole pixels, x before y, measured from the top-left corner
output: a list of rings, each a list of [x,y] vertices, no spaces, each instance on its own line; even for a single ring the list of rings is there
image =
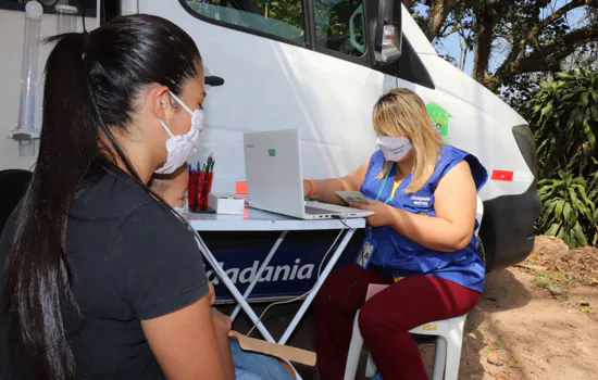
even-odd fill
[[[231,192],[245,179],[242,134],[252,130],[299,128],[307,178],[349,173],[375,149],[375,101],[404,87],[422,97],[445,140],[475,154],[490,175],[479,194],[488,270],[532,251],[540,203],[527,123],[439,58],[400,0],[97,3],[104,20],[147,13],[176,23],[197,42],[209,75],[223,79],[208,89],[196,157],[215,154],[213,191]]]

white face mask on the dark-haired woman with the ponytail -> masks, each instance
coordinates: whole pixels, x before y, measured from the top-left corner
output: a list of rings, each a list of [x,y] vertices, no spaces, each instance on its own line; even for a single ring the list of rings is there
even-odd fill
[[[166,162],[161,168],[155,170],[158,174],[172,174],[183,166],[183,164],[197,152],[199,147],[199,135],[203,131],[203,111],[191,111],[174,93],[171,92],[171,96],[185,109],[185,111],[191,114],[191,128],[185,135],[174,136],[166,124],[158,119],[164,130],[171,136],[171,138],[166,140],[166,151],[169,152]]]

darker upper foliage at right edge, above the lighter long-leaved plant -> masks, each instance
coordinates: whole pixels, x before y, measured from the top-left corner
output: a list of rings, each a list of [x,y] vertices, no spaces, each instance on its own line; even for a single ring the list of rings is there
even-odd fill
[[[598,72],[557,73],[523,110],[536,141],[540,178],[559,170],[598,181]]]

